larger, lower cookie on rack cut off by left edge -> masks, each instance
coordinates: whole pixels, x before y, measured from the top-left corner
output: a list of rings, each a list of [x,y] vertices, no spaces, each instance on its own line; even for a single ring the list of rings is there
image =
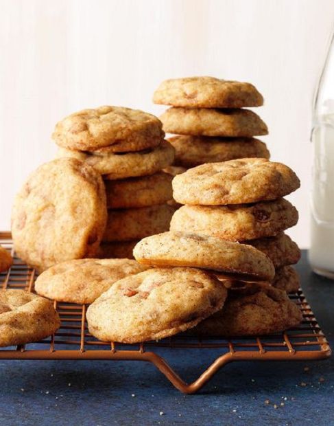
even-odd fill
[[[50,300],[23,290],[0,290],[0,347],[44,339],[59,327]]]

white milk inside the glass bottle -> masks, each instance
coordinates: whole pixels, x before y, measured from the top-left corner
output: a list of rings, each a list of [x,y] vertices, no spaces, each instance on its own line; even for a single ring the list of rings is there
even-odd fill
[[[311,247],[313,271],[334,279],[334,113],[319,117],[313,128]]]

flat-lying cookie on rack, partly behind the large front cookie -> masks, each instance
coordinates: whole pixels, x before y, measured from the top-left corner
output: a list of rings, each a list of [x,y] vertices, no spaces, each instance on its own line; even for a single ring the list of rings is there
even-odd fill
[[[58,302],[93,303],[116,281],[145,271],[129,259],[77,259],[58,263],[38,276],[35,291]]]

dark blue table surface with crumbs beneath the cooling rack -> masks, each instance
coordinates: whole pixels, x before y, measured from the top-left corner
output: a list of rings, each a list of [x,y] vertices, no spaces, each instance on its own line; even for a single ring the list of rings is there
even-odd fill
[[[334,282],[302,287],[334,347]],[[217,352],[173,350],[191,381]],[[268,403],[269,401],[269,403]],[[183,395],[154,366],[133,361],[1,361],[1,425],[334,425],[333,358],[230,363],[199,394]]]

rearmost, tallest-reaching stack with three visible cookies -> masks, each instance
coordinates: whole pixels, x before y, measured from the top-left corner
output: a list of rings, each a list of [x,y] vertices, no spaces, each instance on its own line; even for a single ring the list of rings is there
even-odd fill
[[[246,157],[269,158],[267,147],[254,135],[267,126],[247,106],[261,106],[263,97],[247,82],[213,77],[166,80],[154,92],[156,104],[171,105],[160,120],[176,150],[174,164],[191,168],[204,163]]]

